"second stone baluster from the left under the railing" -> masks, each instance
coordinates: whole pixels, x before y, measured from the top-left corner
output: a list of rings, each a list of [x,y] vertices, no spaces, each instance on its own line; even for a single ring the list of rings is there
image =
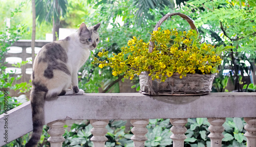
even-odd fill
[[[93,141],[95,147],[104,147],[108,140],[105,136],[108,130],[105,127],[109,124],[109,120],[90,120],[90,124],[93,126],[91,130],[93,137],[90,140]]]

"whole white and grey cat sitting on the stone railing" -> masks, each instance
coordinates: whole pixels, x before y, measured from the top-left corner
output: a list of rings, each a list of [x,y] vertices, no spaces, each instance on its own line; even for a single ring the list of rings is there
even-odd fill
[[[26,147],[37,146],[40,140],[45,125],[45,101],[57,99],[58,95],[84,93],[78,88],[77,72],[99,43],[99,27],[100,23],[90,28],[81,23],[76,33],[46,44],[37,54],[30,94],[33,133]]]

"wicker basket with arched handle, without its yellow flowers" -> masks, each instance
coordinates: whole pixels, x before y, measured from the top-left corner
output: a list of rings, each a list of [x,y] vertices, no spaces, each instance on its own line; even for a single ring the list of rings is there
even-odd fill
[[[197,31],[193,20],[182,13],[168,13],[163,16],[156,24],[154,31],[157,31],[158,27],[168,17],[179,15],[187,20],[191,29]],[[154,42],[150,42],[148,52],[153,52]],[[180,79],[178,73],[174,73],[172,77],[167,77],[165,82],[158,80],[152,80],[152,77],[148,76],[147,72],[142,72],[139,75],[140,79],[140,92],[146,95],[203,95],[208,94],[211,91],[212,82],[214,81],[216,74],[211,75],[199,75],[199,74],[187,74],[186,77]]]

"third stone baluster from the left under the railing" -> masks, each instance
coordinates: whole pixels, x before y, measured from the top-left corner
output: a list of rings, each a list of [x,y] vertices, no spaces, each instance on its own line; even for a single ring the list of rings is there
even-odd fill
[[[144,146],[147,137],[145,136],[147,133],[146,126],[149,122],[149,119],[131,119],[131,124],[134,126],[132,129],[133,136],[132,140],[134,142],[134,146]]]

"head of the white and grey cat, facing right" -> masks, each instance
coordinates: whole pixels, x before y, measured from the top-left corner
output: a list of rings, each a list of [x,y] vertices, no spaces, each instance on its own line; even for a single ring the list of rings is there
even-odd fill
[[[79,41],[82,45],[84,45],[84,47],[89,48],[89,50],[94,50],[99,43],[99,34],[97,32],[99,27],[100,23],[96,24],[93,27],[87,28],[86,24],[83,22],[79,27]]]

